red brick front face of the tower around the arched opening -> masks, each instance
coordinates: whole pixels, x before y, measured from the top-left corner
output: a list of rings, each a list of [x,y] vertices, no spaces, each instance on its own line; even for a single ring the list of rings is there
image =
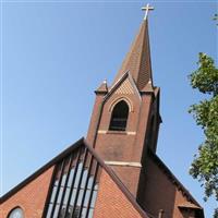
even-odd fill
[[[122,89],[125,83],[129,83],[129,87],[125,87],[122,92],[118,92],[120,88]],[[109,131],[112,108],[123,98],[130,106],[126,131]],[[140,164],[143,153],[146,153],[144,145],[147,144],[145,143],[145,137],[152,107],[152,95],[143,95],[140,97],[137,90],[131,84],[131,80],[128,77],[104,101],[102,110],[100,107],[101,102],[102,95],[97,95],[87,134],[87,142],[104,160]],[[97,125],[98,121],[99,125]],[[98,133],[95,141],[96,129]],[[94,141],[95,146],[93,144]],[[113,167],[113,170],[136,197],[140,170],[118,166]]]

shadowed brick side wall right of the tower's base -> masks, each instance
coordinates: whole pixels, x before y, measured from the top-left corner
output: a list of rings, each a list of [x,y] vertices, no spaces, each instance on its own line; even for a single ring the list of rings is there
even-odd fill
[[[196,205],[187,201],[182,191],[172,183],[171,179],[149,156],[146,160],[146,167],[144,189],[141,191],[141,204],[147,213],[157,217],[159,210],[164,209],[164,218],[197,217],[194,215],[194,210],[189,210],[184,215],[179,209],[181,205],[190,205],[191,207],[196,207]]]

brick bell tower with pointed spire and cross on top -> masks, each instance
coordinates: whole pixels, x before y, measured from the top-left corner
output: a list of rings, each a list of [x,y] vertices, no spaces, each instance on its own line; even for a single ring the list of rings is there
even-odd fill
[[[140,27],[114,82],[97,88],[87,142],[138,198],[146,170],[147,149],[156,152],[159,88],[154,86],[148,17]]]

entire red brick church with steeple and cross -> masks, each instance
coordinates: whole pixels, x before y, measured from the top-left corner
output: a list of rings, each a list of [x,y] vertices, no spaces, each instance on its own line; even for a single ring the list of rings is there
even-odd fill
[[[148,9],[113,83],[95,92],[87,136],[3,195],[1,218],[204,218],[156,154]]]

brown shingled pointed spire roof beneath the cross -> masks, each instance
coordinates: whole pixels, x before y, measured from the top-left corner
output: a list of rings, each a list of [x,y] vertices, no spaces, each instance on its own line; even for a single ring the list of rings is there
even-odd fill
[[[147,17],[143,21],[140,32],[130,51],[126,53],[114,82],[128,71],[140,90],[142,90],[149,81],[152,81],[153,84]]]

